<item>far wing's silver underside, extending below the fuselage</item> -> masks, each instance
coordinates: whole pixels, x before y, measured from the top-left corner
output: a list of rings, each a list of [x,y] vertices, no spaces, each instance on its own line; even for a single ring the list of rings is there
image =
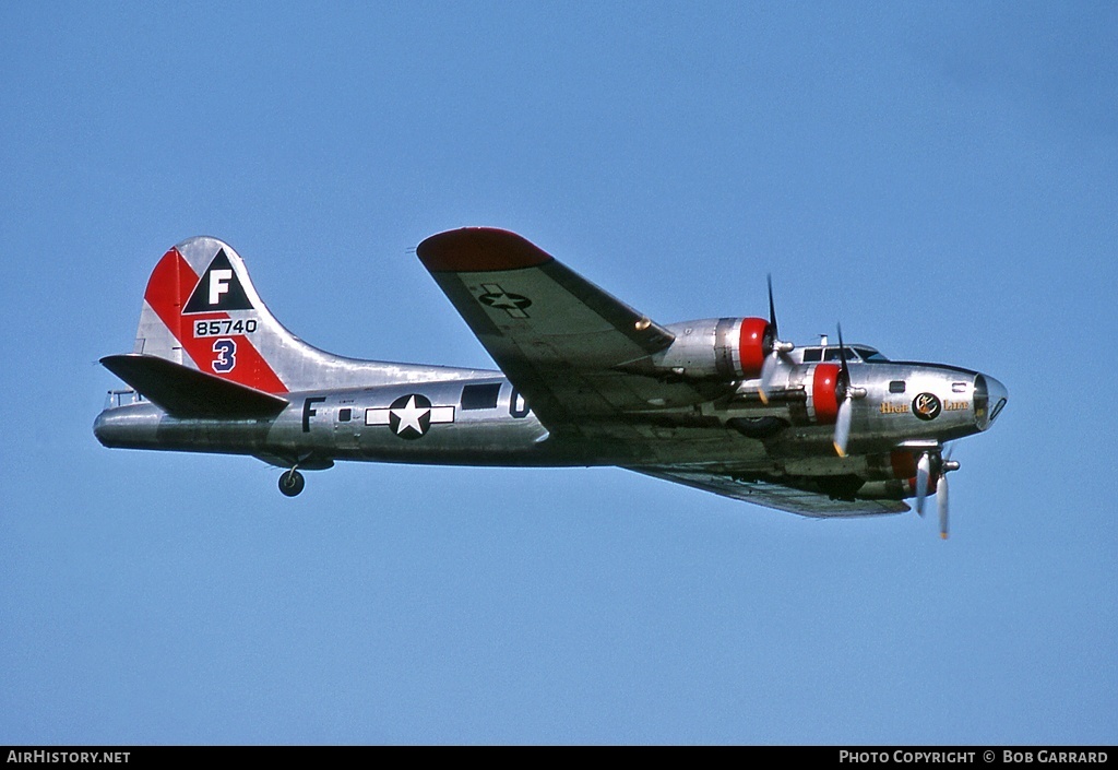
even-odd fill
[[[732,476],[701,471],[676,471],[652,468],[629,468],[638,473],[665,481],[683,483],[735,500],[745,500],[767,508],[813,518],[880,516],[910,510],[899,500],[834,500],[822,492],[784,487],[768,481],[741,481]]]

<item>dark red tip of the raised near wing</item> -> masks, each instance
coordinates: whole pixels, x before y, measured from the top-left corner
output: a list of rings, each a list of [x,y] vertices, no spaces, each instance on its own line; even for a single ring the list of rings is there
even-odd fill
[[[528,240],[506,229],[463,227],[432,235],[416,254],[432,272],[489,272],[534,267],[552,260]]]

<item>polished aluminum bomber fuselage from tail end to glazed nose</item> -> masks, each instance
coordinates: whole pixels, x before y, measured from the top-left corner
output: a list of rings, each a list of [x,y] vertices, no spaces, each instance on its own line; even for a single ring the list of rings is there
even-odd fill
[[[304,469],[325,468],[333,460],[511,467],[674,463],[770,477],[853,472],[871,478],[881,464],[874,456],[898,448],[917,451],[985,430],[999,397],[996,381],[956,367],[881,361],[852,363],[850,368],[865,395],[855,402],[846,458],[831,449],[833,426],[816,421],[811,364],[788,367],[768,404],[758,397],[757,382],[745,381],[703,403],[651,406],[629,415],[635,438],[624,443],[551,436],[501,373],[476,370],[462,379],[291,393],[286,409],[268,419],[183,420],[140,400],[106,409],[94,431],[107,447],[250,454]],[[897,383],[903,383],[903,391]],[[937,413],[921,419],[918,400],[938,402]],[[780,430],[755,435],[741,428],[741,421],[748,425],[765,419],[779,421]]]

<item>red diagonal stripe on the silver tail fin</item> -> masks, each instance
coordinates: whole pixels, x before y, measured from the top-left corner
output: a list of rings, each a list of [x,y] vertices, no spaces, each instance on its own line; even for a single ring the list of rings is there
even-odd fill
[[[148,281],[148,290],[144,292],[144,300],[171,330],[174,338],[179,340],[179,345],[182,346],[187,355],[206,374],[217,375],[222,379],[255,387],[266,393],[286,393],[287,386],[268,366],[264,356],[252,344],[247,335],[230,335],[225,338],[237,344],[237,350],[234,354],[236,366],[227,373],[214,369],[214,361],[217,360],[217,354],[214,351],[216,338],[195,337],[191,325],[196,320],[229,318],[229,314],[215,312],[183,318],[182,307],[190,299],[190,293],[197,284],[198,274],[179,251],[172,248],[163,255],[163,259],[155,265],[155,270],[152,271],[151,280]]]

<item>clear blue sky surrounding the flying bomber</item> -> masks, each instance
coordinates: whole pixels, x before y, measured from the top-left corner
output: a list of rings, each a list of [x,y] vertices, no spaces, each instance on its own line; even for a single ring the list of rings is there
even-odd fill
[[[1115,743],[1114,3],[0,3],[0,742]],[[656,320],[996,376],[953,537],[622,470],[91,426],[172,244],[489,366],[415,259],[518,231]]]

